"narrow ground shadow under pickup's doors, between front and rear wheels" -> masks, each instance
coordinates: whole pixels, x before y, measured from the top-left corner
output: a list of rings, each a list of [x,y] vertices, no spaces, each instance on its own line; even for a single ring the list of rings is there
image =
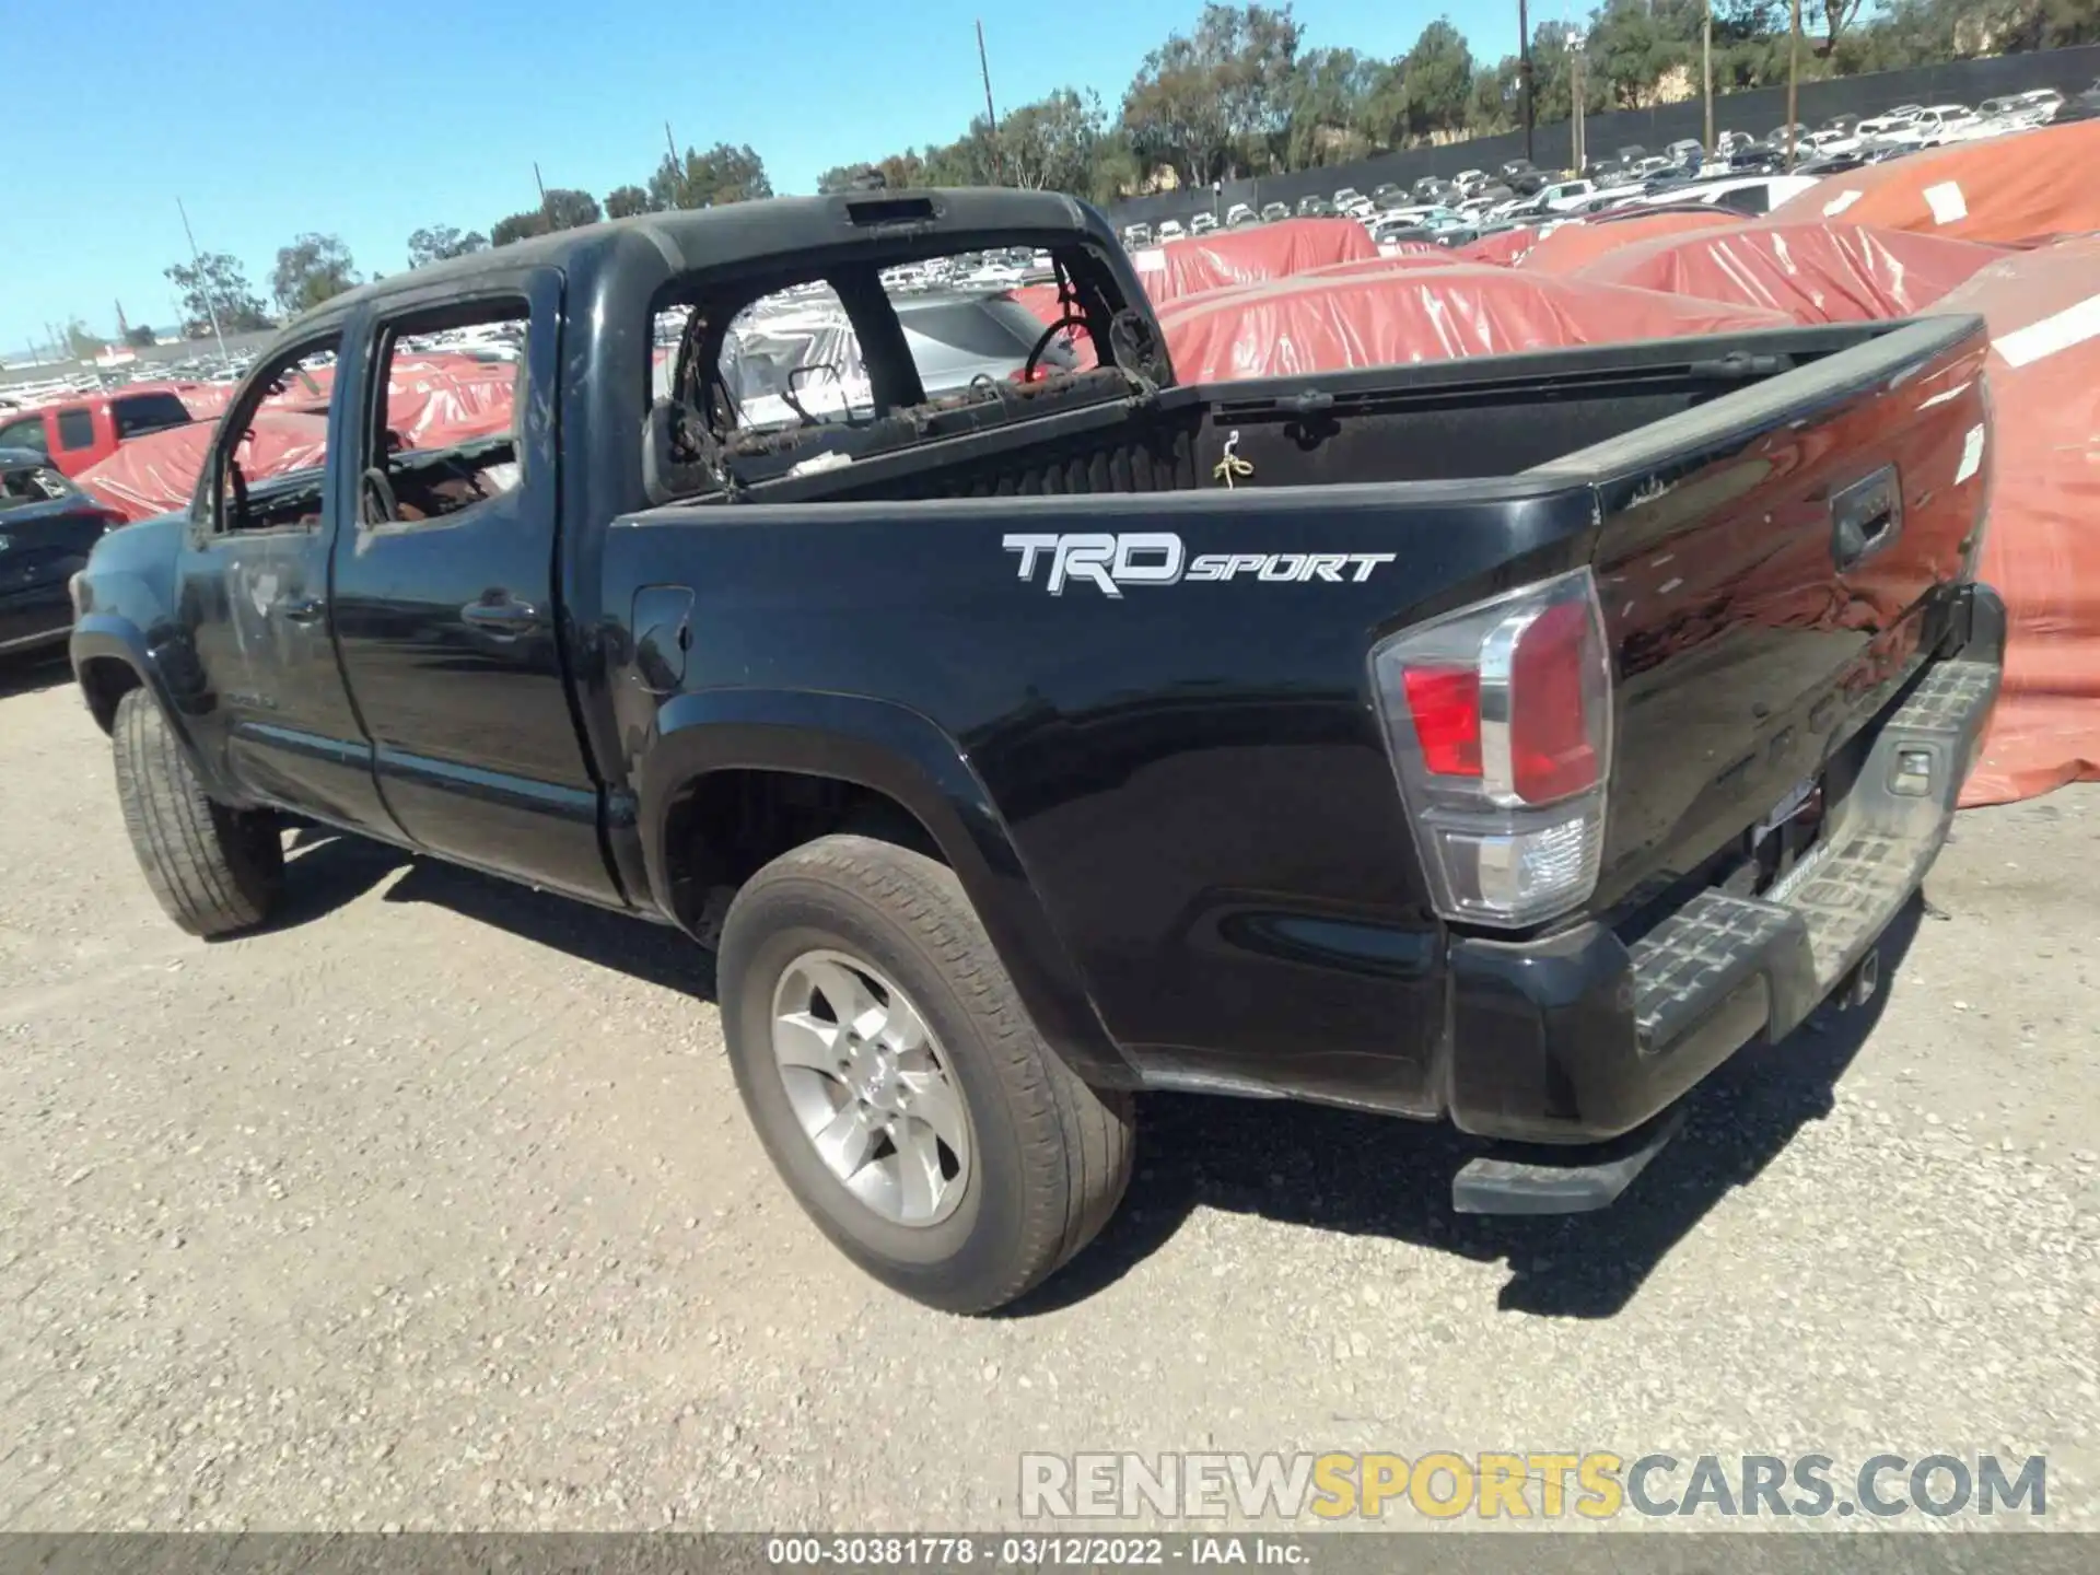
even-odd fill
[[[386,886],[388,903],[447,907],[582,962],[714,1002],[714,953],[662,924],[311,825],[292,832],[286,865],[286,901],[271,930],[311,924],[399,876]]]

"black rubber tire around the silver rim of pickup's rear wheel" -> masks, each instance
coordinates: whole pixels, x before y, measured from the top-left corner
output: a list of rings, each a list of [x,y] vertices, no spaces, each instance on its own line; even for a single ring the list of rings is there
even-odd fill
[[[939,1224],[878,1216],[794,1117],[773,1056],[773,995],[813,949],[897,981],[960,1084],[972,1163]],[[1090,1088],[1044,1044],[947,865],[863,836],[781,855],[731,903],[718,983],[729,1060],[766,1155],[817,1226],[884,1285],[949,1312],[989,1312],[1115,1214],[1130,1182],[1130,1096]]]

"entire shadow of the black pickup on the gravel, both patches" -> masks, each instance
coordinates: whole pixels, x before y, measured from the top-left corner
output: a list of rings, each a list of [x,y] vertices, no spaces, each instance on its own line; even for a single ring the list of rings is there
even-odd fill
[[[716,1000],[714,956],[676,930],[326,830],[294,832],[286,857],[288,901],[271,928],[307,924],[393,880],[388,903],[433,903],[582,962]],[[1884,979],[1898,974],[1924,914],[1926,903],[1913,897],[1890,924]],[[1884,1002],[1886,989],[1850,1012],[1825,1008],[1785,1044],[1732,1056],[1693,1092],[1684,1130],[1596,1214],[1455,1214],[1451,1176],[1478,1144],[1449,1126],[1287,1100],[1142,1096],[1138,1170],[1117,1218],[1006,1317],[1052,1312],[1107,1289],[1199,1208],[1506,1262],[1499,1308],[1613,1317],[1716,1203],[1829,1115]]]

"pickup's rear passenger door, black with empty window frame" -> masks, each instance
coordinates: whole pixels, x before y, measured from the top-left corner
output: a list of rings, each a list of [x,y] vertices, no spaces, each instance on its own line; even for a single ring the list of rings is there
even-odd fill
[[[561,275],[405,296],[372,346],[334,620],[380,792],[433,853],[624,905],[556,605]]]

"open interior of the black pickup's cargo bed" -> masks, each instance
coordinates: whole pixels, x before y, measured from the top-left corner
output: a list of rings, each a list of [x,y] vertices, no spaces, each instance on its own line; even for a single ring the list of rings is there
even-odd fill
[[[680,502],[903,502],[1510,477],[1880,338],[1890,323],[1766,330],[1539,355],[1132,391],[1113,372],[993,405],[754,443],[741,485]],[[1018,416],[1018,418],[1016,418]],[[1237,435],[1237,439],[1235,439]],[[800,441],[796,441],[800,439]]]

